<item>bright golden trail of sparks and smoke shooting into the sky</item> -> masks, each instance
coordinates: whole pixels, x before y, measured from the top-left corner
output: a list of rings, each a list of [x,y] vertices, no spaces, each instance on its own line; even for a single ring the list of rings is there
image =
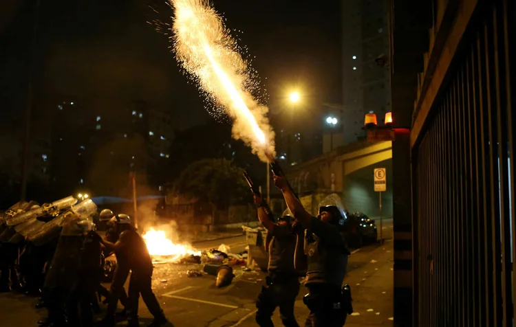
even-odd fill
[[[248,91],[252,80],[222,17],[206,0],[170,0],[175,9],[174,51],[200,87],[233,118],[233,137],[242,139],[263,161],[274,153],[274,132]]]

